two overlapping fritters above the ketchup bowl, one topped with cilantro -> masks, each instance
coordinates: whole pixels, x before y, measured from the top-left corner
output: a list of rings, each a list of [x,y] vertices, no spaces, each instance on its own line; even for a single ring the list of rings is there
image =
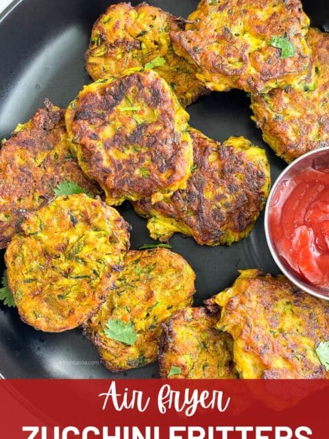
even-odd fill
[[[170,34],[207,88],[252,93],[252,119],[287,163],[329,145],[329,37],[308,26],[300,0],[202,0]]]

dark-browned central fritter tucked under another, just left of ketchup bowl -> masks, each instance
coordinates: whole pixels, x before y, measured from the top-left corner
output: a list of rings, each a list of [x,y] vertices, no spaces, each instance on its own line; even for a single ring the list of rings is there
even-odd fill
[[[168,241],[175,232],[198,244],[232,244],[247,236],[269,193],[269,163],[265,151],[243,137],[221,145],[191,128],[194,163],[185,190],[168,201],[134,203],[148,217],[153,239]]]

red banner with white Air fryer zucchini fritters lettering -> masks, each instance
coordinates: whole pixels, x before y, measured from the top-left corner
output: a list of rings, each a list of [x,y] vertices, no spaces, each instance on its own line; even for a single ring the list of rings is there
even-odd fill
[[[326,381],[1,380],[1,439],[326,439]]]

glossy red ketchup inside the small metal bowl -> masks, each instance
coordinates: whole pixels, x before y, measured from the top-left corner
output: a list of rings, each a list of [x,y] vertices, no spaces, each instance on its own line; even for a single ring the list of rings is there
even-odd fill
[[[286,265],[307,283],[329,289],[329,168],[308,167],[280,182],[269,231]]]

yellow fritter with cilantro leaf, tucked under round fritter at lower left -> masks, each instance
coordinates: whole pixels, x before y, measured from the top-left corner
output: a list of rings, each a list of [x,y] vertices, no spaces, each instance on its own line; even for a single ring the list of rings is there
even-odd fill
[[[194,281],[180,254],[166,248],[128,252],[116,289],[86,322],[105,366],[119,371],[156,361],[162,323],[191,305]]]

